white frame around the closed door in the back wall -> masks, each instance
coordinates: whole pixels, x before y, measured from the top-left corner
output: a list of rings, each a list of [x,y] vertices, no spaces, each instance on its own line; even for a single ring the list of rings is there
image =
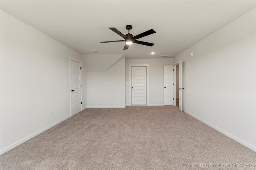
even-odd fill
[[[130,96],[130,106],[132,105],[132,67],[147,67],[147,105],[149,104],[149,79],[148,79],[148,64],[129,64],[129,96]],[[140,105],[132,105],[132,106],[140,106]],[[141,106],[146,106],[146,105],[141,105]]]

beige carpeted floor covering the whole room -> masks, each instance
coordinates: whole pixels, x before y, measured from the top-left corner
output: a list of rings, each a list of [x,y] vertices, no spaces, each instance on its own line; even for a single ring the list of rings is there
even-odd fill
[[[88,108],[0,156],[1,170],[255,166],[256,152],[167,106]]]

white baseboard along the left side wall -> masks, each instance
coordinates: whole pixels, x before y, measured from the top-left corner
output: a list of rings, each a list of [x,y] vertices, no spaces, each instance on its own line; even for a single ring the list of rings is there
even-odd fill
[[[49,126],[47,126],[47,127],[45,127],[45,128],[42,128],[41,130],[38,130],[37,132],[34,132],[33,134],[30,134],[30,135],[28,135],[27,137],[25,137],[25,138],[23,138],[23,139],[21,139],[21,140],[18,140],[17,142],[15,142],[15,143],[13,143],[13,144],[11,144],[11,145],[9,145],[9,146],[7,146],[7,147],[1,149],[1,150],[0,150],[0,155],[3,154],[3,153],[5,153],[5,152],[7,152],[7,151],[9,151],[9,150],[11,150],[11,149],[13,149],[13,148],[15,148],[15,147],[18,146],[18,145],[20,145],[20,144],[26,142],[27,140],[30,140],[31,138],[33,138],[33,137],[35,137],[36,135],[38,135],[38,134],[40,134],[40,133],[42,133],[42,132],[48,130],[49,128],[54,127],[55,125],[57,125],[57,124],[59,124],[59,123],[65,121],[66,119],[68,119],[68,118],[70,118],[70,117],[71,117],[71,116],[69,115],[69,116],[67,116],[67,117],[65,117],[65,118],[63,118],[63,119],[61,119],[60,121],[57,121],[57,122],[53,123],[52,125],[49,125]]]

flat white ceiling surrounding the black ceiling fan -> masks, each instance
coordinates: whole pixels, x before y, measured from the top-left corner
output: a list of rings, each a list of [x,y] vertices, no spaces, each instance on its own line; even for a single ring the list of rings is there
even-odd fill
[[[175,57],[236,18],[255,8],[256,1],[174,0],[1,0],[1,10],[81,54],[124,54],[126,58]],[[150,29],[155,34],[140,38],[152,47],[132,44],[108,29],[134,36]],[[91,50],[98,50],[92,53]],[[152,55],[150,52],[154,51]]]

